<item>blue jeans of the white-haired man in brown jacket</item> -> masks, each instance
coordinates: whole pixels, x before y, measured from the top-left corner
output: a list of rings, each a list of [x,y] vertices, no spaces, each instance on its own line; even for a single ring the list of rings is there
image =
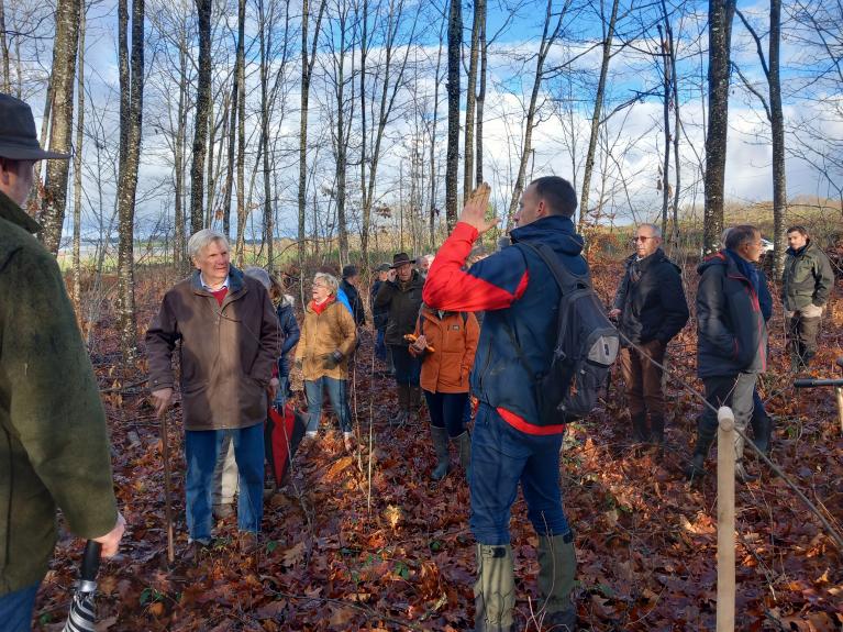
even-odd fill
[[[195,541],[211,540],[213,468],[225,435],[231,436],[234,443],[234,459],[240,476],[237,529],[254,533],[260,531],[264,518],[264,424],[225,430],[187,430],[185,503],[188,532]]]

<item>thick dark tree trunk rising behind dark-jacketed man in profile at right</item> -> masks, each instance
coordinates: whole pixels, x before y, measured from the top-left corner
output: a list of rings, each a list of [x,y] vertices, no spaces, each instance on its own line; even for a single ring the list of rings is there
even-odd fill
[[[729,131],[729,66],[735,0],[709,0],[708,114],[703,253],[720,247]]]

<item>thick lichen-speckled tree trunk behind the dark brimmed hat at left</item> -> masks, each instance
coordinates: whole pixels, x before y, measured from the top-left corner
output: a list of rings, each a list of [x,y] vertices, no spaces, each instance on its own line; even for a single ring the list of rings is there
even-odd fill
[[[49,151],[70,153],[74,131],[74,84],[76,51],[79,42],[79,0],[58,0],[56,38],[53,48],[53,118]],[[58,254],[67,203],[68,160],[47,160],[41,222],[41,241],[54,255]]]

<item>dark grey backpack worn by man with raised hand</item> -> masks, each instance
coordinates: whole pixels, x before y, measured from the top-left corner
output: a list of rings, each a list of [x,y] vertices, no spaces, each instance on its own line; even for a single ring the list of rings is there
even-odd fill
[[[573,274],[546,245],[536,247],[524,242],[513,245],[525,246],[539,255],[562,292],[551,365],[536,376],[540,424],[576,421],[595,409],[597,393],[618,357],[620,336],[606,315],[588,273]],[[521,363],[528,366],[512,329],[507,329]]]

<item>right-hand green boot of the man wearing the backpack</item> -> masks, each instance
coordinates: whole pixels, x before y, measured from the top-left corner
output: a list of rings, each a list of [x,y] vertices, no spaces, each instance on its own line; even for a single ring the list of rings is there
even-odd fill
[[[570,601],[577,557],[574,534],[539,536],[539,595],[545,616],[543,624],[559,632],[573,632],[577,623],[577,609]]]

